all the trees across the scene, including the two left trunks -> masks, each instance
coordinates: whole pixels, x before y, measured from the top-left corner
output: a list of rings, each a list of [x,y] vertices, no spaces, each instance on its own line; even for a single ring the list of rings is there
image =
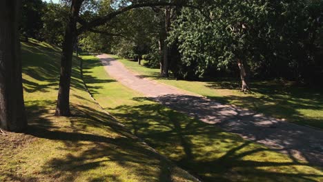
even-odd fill
[[[148,61],[161,77],[322,83],[323,1],[4,0],[0,2],[1,128],[26,129],[19,39],[62,48],[55,115],[70,116],[73,51]],[[20,32],[20,34],[19,34]]]

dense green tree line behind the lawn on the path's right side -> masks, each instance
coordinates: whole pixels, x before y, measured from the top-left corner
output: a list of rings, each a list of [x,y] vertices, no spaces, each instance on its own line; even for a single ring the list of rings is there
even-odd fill
[[[322,85],[323,1],[197,1],[198,8],[141,8],[112,21],[108,34],[88,32],[91,52],[146,59],[161,77],[283,79]],[[101,30],[107,30],[101,27]],[[120,34],[120,36],[117,36]]]

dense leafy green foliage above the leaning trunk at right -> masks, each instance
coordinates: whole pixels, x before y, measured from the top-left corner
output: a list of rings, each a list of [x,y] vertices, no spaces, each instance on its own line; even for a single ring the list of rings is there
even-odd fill
[[[194,65],[197,76],[235,70],[242,59],[254,77],[315,78],[322,75],[322,12],[322,1],[208,1],[201,11],[182,10],[169,41],[178,41],[184,66]]]

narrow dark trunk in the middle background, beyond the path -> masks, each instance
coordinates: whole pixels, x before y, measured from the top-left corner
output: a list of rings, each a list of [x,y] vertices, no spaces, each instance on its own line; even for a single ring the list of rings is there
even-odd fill
[[[168,59],[168,43],[167,43],[167,35],[170,28],[170,7],[165,7],[165,39],[164,39],[164,65],[163,65],[163,77],[169,77],[169,59]]]

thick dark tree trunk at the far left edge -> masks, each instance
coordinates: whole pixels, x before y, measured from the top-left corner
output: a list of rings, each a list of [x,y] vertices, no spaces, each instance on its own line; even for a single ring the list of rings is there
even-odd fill
[[[21,77],[19,12],[21,1],[0,1],[0,127],[22,132],[27,127]]]

